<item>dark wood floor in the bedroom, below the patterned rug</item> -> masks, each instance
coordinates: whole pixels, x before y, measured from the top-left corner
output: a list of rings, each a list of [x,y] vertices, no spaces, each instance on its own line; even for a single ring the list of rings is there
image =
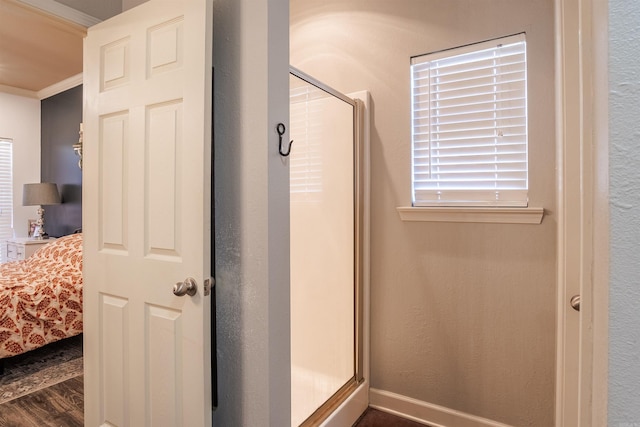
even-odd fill
[[[0,405],[2,427],[82,427],[82,375]]]

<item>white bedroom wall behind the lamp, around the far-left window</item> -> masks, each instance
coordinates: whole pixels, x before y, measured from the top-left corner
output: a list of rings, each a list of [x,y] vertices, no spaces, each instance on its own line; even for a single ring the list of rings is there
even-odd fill
[[[40,182],[40,101],[0,92],[0,136],[13,140],[13,228],[27,236],[36,206],[22,206],[22,186]]]

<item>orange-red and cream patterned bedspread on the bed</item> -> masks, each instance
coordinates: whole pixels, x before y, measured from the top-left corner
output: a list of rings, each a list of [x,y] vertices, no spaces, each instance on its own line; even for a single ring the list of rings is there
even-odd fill
[[[82,234],[0,265],[0,359],[82,332]]]

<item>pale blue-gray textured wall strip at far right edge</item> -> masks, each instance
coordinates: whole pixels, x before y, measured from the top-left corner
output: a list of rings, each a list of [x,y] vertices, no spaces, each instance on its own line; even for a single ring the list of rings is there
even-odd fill
[[[609,0],[609,425],[640,425],[640,3]]]

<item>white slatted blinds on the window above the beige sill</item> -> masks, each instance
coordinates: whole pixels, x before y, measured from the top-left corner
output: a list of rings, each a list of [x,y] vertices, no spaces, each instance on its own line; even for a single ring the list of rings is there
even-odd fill
[[[524,34],[411,60],[413,205],[527,206]]]

